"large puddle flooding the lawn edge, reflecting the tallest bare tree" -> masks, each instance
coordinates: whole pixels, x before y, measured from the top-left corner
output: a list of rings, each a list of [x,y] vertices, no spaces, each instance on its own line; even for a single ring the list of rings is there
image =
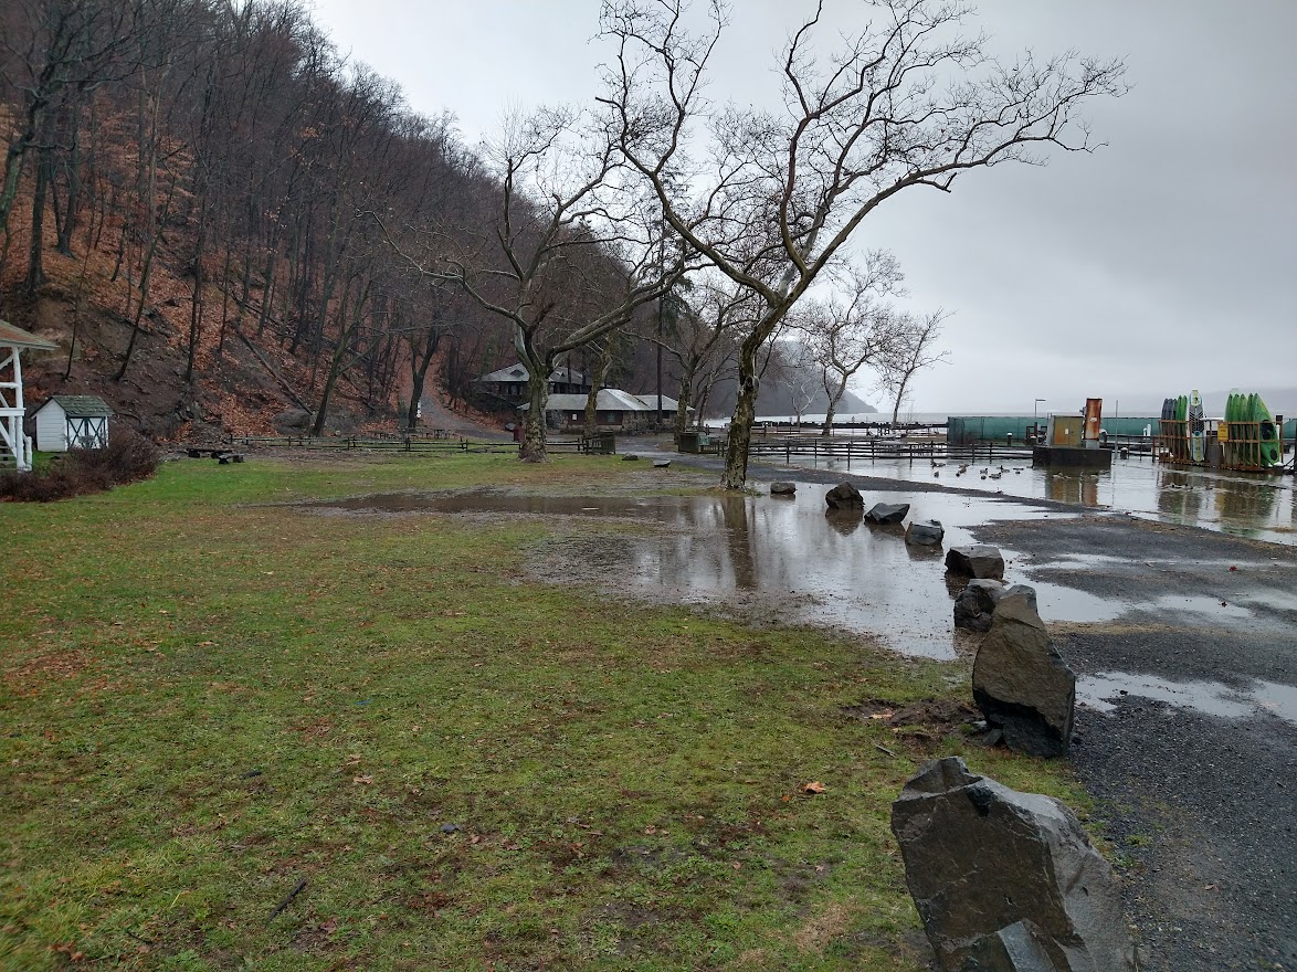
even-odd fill
[[[827,513],[824,486],[803,483],[792,500],[772,496],[538,496],[505,491],[451,495],[399,492],[315,503],[354,512],[524,513],[633,517],[665,530],[588,540],[599,566],[617,583],[659,600],[725,603],[735,592],[757,595],[787,625],[830,626],[872,634],[895,651],[953,658],[953,597],[960,583],[946,575],[944,550],[971,543],[969,527],[992,520],[1070,518],[1021,503],[958,494],[910,498],[909,520],[940,520],[942,551],[909,547],[900,526],[872,526],[860,515]],[[865,496],[865,508],[874,499]],[[882,498],[894,502],[888,494]],[[580,564],[582,540],[567,544]],[[610,552],[611,551],[611,552]],[[1003,551],[1014,578],[1012,551]],[[608,562],[611,559],[611,562]],[[1034,584],[1047,621],[1102,621],[1114,608],[1058,584]]]

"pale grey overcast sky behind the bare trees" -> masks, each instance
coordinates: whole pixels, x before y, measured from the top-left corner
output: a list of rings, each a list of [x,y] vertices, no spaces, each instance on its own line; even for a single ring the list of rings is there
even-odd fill
[[[315,0],[344,52],[414,109],[449,109],[470,145],[506,106],[590,101],[598,6]],[[953,312],[949,363],[916,381],[912,408],[1074,411],[1100,395],[1110,413],[1122,397],[1297,388],[1297,0],[978,8],[997,52],[1121,56],[1134,89],[1091,108],[1096,154],[917,188],[861,226],[853,244],[898,255],[912,310]],[[805,9],[735,0],[713,100],[772,104],[774,51]]]

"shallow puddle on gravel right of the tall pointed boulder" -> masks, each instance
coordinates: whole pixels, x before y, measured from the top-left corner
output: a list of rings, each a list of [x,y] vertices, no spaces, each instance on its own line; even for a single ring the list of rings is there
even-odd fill
[[[1254,682],[1250,688],[1240,689],[1220,682],[1172,682],[1124,671],[1104,671],[1077,680],[1077,701],[1105,714],[1115,712],[1127,695],[1227,719],[1267,712],[1297,724],[1297,688],[1276,682]]]

